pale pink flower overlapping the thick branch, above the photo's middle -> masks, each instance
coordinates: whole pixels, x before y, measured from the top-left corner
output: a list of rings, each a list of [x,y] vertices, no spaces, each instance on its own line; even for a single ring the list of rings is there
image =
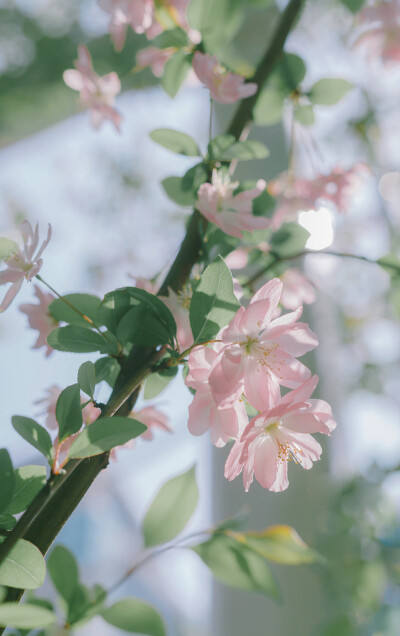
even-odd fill
[[[203,183],[199,188],[196,208],[226,234],[242,238],[244,231],[265,229],[271,221],[252,214],[253,199],[265,190],[266,182],[259,179],[252,190],[234,194],[238,185],[232,183],[228,176],[213,170],[211,183]]]

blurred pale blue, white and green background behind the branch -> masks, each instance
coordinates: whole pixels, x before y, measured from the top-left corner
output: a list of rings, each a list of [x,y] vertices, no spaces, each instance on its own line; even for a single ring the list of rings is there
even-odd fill
[[[306,63],[305,90],[321,77],[356,85],[339,104],[315,107],[313,125],[296,125],[294,165],[311,177],[368,163],[371,172],[345,213],[305,210],[299,222],[310,232],[311,249],[375,260],[399,247],[400,64],[367,59],[352,47],[357,4],[308,0],[288,38],[286,50]],[[244,23],[221,55],[251,69],[278,9],[269,0],[243,1],[241,8]],[[117,54],[107,22],[96,0],[0,0],[0,233],[12,233],[24,218],[39,221],[42,233],[50,222],[53,239],[41,273],[60,293],[102,296],[168,267],[190,209],[169,201],[160,180],[183,174],[193,161],[171,155],[148,133],[176,127],[202,148],[208,141],[206,90],[189,81],[171,99],[150,72],[131,73],[146,41],[131,32]],[[76,93],[62,81],[80,43],[88,45],[100,75],[115,70],[122,79],[121,134],[107,123],[93,131]],[[215,132],[225,129],[231,114],[231,107],[216,109]],[[268,181],[284,171],[289,129],[286,111],[282,121],[254,127],[252,137],[267,144],[270,156],[240,167],[238,178]],[[190,394],[177,377],[158,398],[139,404],[165,412],[173,434],[159,432],[151,443],[139,440],[121,451],[58,538],[77,556],[84,582],[109,587],[140,555],[140,523],[161,484],[196,463],[200,505],[185,534],[245,508],[248,528],[287,523],[328,559],[325,566],[274,568],[284,596],[277,605],[216,584],[190,551],[166,553],[115,598],[131,594],[152,602],[171,636],[400,633],[399,283],[353,259],[315,253],[296,266],[316,286],[306,319],[320,346],[310,364],[321,378],[319,396],[332,404],[338,421],[322,461],[310,472],[291,466],[284,493],[257,483],[244,493],[240,479],[223,478],[227,449],[189,435]],[[15,466],[40,458],[14,432],[11,415],[43,422],[35,402],[49,386],[74,382],[79,364],[90,357],[55,352],[46,359],[43,350],[32,351],[35,334],[18,311],[20,303],[32,302],[32,292],[25,285],[0,321],[1,437]],[[98,399],[106,400],[107,387],[102,390]],[[49,584],[44,594],[50,590]],[[79,634],[117,631],[99,618]]]

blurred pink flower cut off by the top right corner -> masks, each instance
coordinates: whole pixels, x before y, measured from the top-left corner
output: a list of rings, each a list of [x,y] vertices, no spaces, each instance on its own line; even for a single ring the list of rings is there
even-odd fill
[[[366,30],[353,46],[366,50],[368,58],[381,58],[385,64],[400,62],[400,3],[379,2],[362,9],[357,15]]]

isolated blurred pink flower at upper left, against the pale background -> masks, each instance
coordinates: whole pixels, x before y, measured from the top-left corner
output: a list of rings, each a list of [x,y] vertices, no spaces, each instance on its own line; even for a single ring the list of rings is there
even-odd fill
[[[67,86],[79,91],[82,106],[90,110],[93,128],[99,128],[103,121],[109,119],[120,130],[122,117],[113,108],[115,96],[121,91],[121,82],[116,73],[108,73],[103,77],[97,75],[88,49],[81,44],[75,70],[64,71],[63,78]]]

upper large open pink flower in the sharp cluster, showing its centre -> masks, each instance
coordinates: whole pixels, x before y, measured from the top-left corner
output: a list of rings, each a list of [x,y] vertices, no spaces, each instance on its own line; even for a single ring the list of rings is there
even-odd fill
[[[296,388],[310,376],[296,360],[318,343],[308,325],[297,322],[302,307],[273,319],[282,286],[278,278],[263,285],[220,332],[223,344],[209,377],[217,404],[230,405],[244,391],[261,410],[266,400],[276,401],[279,385]]]

